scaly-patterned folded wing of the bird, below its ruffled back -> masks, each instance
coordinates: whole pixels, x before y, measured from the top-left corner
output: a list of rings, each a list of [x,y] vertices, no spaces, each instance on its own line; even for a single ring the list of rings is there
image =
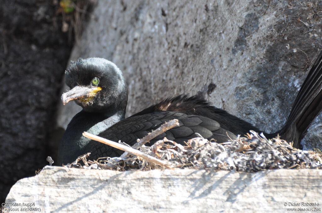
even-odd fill
[[[129,146],[133,146],[138,138],[143,138],[153,129],[158,128],[164,122],[172,119],[178,119],[179,126],[154,138],[151,140],[152,144],[166,137],[169,140],[175,140],[177,143],[185,145],[184,141],[197,137],[195,133],[199,133],[204,138],[213,138],[217,142],[226,142],[230,138],[236,138],[233,133],[222,129],[220,124],[215,120],[175,111],[155,111],[148,114],[131,116],[125,120],[121,120],[99,134],[99,136],[116,142],[121,140]],[[91,141],[84,149],[84,153],[91,152],[91,159],[107,156],[114,157],[123,153],[121,150],[96,141]]]

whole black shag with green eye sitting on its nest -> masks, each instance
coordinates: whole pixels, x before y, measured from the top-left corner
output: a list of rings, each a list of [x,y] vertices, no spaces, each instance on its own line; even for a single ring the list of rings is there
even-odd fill
[[[178,119],[180,126],[159,135],[151,143],[163,137],[183,143],[196,137],[195,133],[225,142],[249,130],[263,132],[198,96],[188,95],[167,98],[125,119],[127,85],[119,68],[103,58],[79,58],[71,62],[66,69],[66,84],[71,90],[62,94],[63,104],[75,100],[83,109],[72,118],[63,135],[58,150],[60,165],[88,152],[90,159],[122,154],[121,150],[83,137],[84,131],[113,141],[121,140],[130,146],[137,138],[143,138],[171,119]],[[272,138],[279,134],[299,147],[309,125],[322,109],[321,89],[322,52],[309,71],[283,128],[272,134],[263,132],[264,135]]]

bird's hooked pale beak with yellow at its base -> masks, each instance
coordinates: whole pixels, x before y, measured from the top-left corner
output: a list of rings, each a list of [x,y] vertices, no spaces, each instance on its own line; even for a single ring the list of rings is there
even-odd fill
[[[82,98],[92,98],[94,97],[95,93],[102,90],[101,87],[84,87],[84,86],[75,86],[70,91],[66,93],[62,93],[62,104],[66,104],[72,100],[79,100]]]

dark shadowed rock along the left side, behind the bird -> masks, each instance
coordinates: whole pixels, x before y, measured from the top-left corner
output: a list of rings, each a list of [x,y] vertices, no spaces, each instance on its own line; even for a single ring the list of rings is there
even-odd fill
[[[0,1],[0,203],[52,155],[48,143],[71,51],[54,1]]]

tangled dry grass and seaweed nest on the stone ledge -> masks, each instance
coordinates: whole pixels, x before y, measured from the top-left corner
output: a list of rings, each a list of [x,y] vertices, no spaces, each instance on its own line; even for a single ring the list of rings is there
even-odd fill
[[[251,132],[248,138],[238,138],[218,144],[202,137],[193,138],[186,145],[164,138],[152,146],[142,146],[141,152],[166,161],[173,168],[195,168],[212,170],[234,170],[257,172],[267,169],[322,168],[320,150],[303,151],[296,149],[279,138],[266,139]],[[90,153],[79,157],[68,167],[111,170],[151,170],[164,169],[138,156],[126,158],[106,157],[97,161],[87,161]],[[81,164],[83,162],[84,165]]]

